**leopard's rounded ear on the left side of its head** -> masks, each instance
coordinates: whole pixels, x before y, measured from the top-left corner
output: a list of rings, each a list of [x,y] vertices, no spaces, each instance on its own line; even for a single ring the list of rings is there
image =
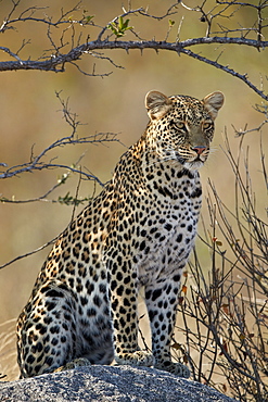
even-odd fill
[[[145,97],[145,108],[151,120],[161,118],[171,109],[173,101],[164,93],[150,91]]]

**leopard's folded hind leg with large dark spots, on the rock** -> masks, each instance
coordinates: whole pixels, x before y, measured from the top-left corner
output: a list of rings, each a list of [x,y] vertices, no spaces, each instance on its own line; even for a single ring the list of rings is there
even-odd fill
[[[50,282],[29,300],[17,322],[22,377],[51,373],[77,354],[75,298],[63,284]]]

